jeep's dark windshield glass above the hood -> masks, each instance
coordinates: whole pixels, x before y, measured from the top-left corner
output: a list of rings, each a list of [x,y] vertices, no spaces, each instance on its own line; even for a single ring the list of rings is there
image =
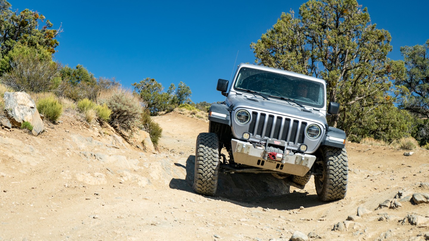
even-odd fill
[[[315,108],[323,108],[325,103],[322,83],[260,69],[241,68],[234,88],[245,93],[248,92],[245,90],[253,90],[272,97],[292,99]]]

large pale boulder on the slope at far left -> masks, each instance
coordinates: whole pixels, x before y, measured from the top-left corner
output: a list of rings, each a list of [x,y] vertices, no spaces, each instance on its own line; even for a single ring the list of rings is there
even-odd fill
[[[33,135],[37,136],[45,131],[36,103],[29,94],[25,92],[5,92],[4,105],[12,127],[21,127],[22,123],[27,121],[33,126]]]

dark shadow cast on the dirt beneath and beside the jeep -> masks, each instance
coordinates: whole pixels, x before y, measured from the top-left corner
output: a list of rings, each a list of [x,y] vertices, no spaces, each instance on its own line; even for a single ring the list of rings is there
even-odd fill
[[[169,187],[194,193],[192,190],[194,178],[195,156],[186,160],[186,166],[175,163],[186,169],[185,179],[172,178]],[[271,174],[226,174],[220,173],[218,190],[210,199],[232,202],[245,207],[262,207],[278,210],[297,209],[323,205],[317,195],[305,192],[290,192],[286,179],[278,179]],[[313,181],[312,179],[310,181]]]

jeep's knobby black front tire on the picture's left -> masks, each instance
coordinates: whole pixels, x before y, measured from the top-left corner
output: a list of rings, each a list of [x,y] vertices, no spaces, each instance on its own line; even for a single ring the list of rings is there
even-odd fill
[[[215,133],[200,133],[196,138],[193,190],[214,196],[218,189],[219,141]]]

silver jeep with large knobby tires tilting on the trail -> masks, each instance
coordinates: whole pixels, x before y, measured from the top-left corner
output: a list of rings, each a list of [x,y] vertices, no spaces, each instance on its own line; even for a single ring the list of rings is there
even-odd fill
[[[299,188],[314,175],[322,201],[343,199],[346,136],[327,124],[339,104],[326,105],[326,81],[242,63],[228,82],[218,80],[227,98],[211,105],[208,133],[196,139],[195,192],[215,195],[219,172],[271,173]]]

